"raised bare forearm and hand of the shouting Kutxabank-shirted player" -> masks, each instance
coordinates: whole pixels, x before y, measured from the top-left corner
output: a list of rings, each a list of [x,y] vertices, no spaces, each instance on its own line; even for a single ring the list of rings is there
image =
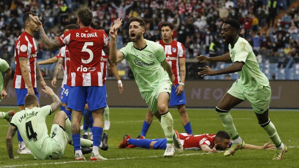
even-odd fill
[[[122,61],[125,56],[122,52],[117,52],[116,51],[116,37],[117,37],[117,30],[113,27],[113,23],[111,24],[110,31],[110,54],[109,54],[109,59],[112,63],[120,62]]]

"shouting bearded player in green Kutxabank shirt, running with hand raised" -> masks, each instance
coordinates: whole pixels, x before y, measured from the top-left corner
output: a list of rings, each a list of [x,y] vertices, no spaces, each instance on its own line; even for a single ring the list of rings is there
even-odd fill
[[[129,20],[129,36],[132,42],[117,52],[117,30],[113,28],[112,24],[109,31],[111,36],[109,58],[112,63],[120,62],[123,59],[129,63],[142,98],[150,111],[161,122],[167,139],[164,157],[172,157],[174,148],[179,153],[183,152],[183,146],[173,130],[173,118],[168,111],[171,85],[174,85],[175,77],[171,66],[166,61],[164,48],[155,42],[144,39],[144,32],[144,20],[137,17],[131,18]]]

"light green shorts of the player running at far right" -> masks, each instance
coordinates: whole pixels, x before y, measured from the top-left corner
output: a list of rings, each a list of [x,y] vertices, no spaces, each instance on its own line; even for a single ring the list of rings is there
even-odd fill
[[[227,92],[228,94],[244,101],[248,100],[252,108],[254,109],[254,112],[258,114],[263,114],[266,110],[269,109],[271,99],[270,85],[264,86],[260,90],[249,91],[245,90],[242,87],[242,84],[237,80]]]

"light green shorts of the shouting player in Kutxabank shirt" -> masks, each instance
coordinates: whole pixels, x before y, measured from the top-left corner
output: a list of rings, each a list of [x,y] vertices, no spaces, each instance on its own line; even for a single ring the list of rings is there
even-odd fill
[[[149,110],[152,114],[155,114],[158,111],[158,96],[161,92],[167,92],[171,94],[171,85],[170,80],[163,80],[158,83],[157,87],[153,91],[143,91],[140,92],[141,97],[147,103]],[[169,101],[169,99],[168,99]]]

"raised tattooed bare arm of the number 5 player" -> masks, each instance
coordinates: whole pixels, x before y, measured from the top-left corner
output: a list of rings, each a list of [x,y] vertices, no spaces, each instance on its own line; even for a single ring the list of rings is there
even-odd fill
[[[37,16],[29,15],[33,22],[39,27],[40,35],[42,36],[42,41],[45,44],[47,50],[58,50],[59,48],[63,47],[62,44],[58,41],[58,39],[51,42],[48,38],[47,34],[45,33],[44,28],[42,27],[42,22],[39,21]]]

